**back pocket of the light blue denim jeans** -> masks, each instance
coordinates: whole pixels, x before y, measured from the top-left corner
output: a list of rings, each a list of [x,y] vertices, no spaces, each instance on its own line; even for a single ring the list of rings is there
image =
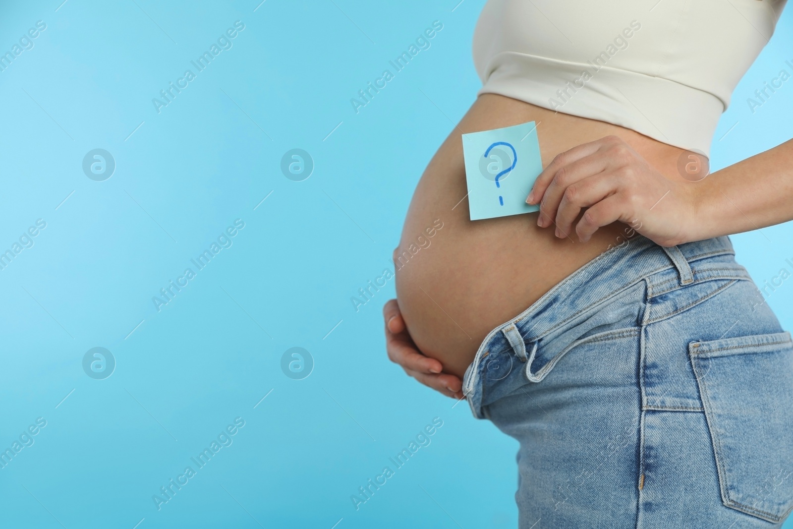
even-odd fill
[[[782,521],[793,508],[790,333],[693,342],[688,355],[711,433],[722,503]]]

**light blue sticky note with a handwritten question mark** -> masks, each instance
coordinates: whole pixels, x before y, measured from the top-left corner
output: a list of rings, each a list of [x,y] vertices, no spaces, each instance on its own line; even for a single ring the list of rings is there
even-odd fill
[[[534,121],[462,135],[471,220],[538,211],[526,197],[542,173]]]

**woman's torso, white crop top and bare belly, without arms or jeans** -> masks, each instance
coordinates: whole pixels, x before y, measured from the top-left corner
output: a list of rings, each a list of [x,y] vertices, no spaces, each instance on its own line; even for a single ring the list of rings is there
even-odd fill
[[[538,228],[537,213],[469,220],[461,132],[535,121],[543,167],[613,134],[667,178],[688,180],[681,155],[707,155],[784,4],[490,0],[473,39],[481,95],[423,174],[397,250],[397,297],[419,349],[462,375],[492,328],[623,243],[628,228],[579,243]]]

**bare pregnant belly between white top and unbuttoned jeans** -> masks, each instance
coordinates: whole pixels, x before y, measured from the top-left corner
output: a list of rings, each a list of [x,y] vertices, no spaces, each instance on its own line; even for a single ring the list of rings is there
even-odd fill
[[[460,377],[488,332],[633,233],[617,222],[580,243],[575,232],[559,239],[553,224],[539,228],[538,213],[469,220],[461,134],[527,121],[538,124],[543,167],[560,152],[615,135],[666,178],[684,180],[677,172],[684,149],[496,94],[477,98],[416,186],[395,254],[405,257],[397,263],[397,299],[408,332],[424,355]]]

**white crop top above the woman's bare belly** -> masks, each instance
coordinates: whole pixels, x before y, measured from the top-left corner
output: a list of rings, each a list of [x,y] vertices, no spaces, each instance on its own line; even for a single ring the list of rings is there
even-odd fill
[[[482,93],[710,155],[737,82],[786,0],[488,0],[473,35]]]

